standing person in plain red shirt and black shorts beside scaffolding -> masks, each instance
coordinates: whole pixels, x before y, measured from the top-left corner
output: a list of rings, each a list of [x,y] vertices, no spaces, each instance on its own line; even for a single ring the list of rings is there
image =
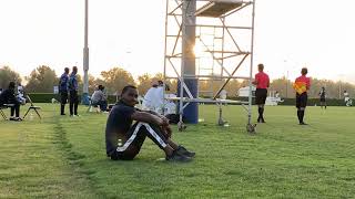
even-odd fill
[[[255,74],[255,81],[253,82],[254,85],[256,85],[255,91],[255,104],[257,105],[257,123],[265,123],[264,119],[264,106],[265,101],[267,97],[267,87],[270,86],[270,78],[266,73],[264,73],[264,65],[258,64],[257,65],[258,73]]]

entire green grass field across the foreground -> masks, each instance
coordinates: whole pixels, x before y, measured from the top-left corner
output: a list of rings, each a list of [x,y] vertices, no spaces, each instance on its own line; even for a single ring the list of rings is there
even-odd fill
[[[220,127],[216,107],[200,106],[205,122],[174,134],[196,158],[172,164],[150,140],[133,161],[111,161],[105,114],[82,106],[81,117],[60,117],[58,105],[41,106],[42,121],[0,121],[0,198],[355,196],[355,108],[308,107],[310,125],[300,126],[294,107],[266,107],[251,136],[242,107],[224,107],[231,126]]]

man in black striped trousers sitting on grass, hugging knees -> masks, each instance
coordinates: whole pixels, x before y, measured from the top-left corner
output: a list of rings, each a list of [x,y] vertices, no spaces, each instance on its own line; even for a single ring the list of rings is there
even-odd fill
[[[189,161],[195,153],[171,140],[172,129],[166,117],[134,107],[138,103],[135,86],[122,90],[119,103],[110,112],[106,130],[106,155],[113,160],[131,160],[140,151],[145,137],[152,139],[165,153],[170,161]],[[136,123],[132,126],[133,121]]]

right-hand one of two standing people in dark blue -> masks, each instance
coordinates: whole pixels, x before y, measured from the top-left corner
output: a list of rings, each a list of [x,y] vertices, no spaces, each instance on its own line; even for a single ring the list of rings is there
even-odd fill
[[[78,67],[73,66],[73,70],[69,76],[69,94],[70,94],[70,103],[69,111],[70,116],[79,116],[78,115],[78,80],[77,80]]]

